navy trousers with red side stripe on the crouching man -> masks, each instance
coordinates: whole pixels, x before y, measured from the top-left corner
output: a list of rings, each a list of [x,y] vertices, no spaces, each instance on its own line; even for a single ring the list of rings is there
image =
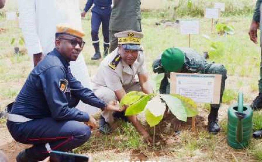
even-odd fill
[[[49,143],[51,150],[69,151],[81,146],[91,135],[89,126],[74,120],[55,121],[52,118],[42,118],[23,123],[8,121],[7,127],[17,142],[33,144],[26,149],[31,161],[48,157],[46,143]]]

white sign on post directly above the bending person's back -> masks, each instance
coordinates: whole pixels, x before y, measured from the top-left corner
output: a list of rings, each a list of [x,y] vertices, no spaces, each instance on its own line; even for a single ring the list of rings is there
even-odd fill
[[[181,34],[199,34],[198,20],[181,20],[179,24]]]

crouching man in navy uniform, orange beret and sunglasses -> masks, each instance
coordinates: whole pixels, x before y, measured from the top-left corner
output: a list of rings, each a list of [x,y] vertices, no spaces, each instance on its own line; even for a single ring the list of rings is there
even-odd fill
[[[55,49],[31,71],[23,88],[7,107],[7,127],[12,137],[33,144],[17,155],[17,161],[40,161],[51,150],[69,151],[90,137],[96,121],[75,108],[79,100],[101,110],[117,110],[116,102],[106,104],[84,88],[72,75],[69,62],[83,49],[84,33],[58,25]]]

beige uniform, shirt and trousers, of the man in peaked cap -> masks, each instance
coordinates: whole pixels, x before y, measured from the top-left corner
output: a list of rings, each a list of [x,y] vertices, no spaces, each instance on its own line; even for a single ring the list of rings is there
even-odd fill
[[[95,95],[104,102],[117,100],[114,91],[122,88],[127,92],[140,91],[137,74],[144,74],[147,72],[145,67],[145,55],[139,51],[136,61],[131,67],[123,60],[120,60],[116,69],[112,69],[108,65],[117,57],[118,47],[110,53],[101,63],[97,74],[92,79],[93,90]],[[103,111],[102,116],[106,122],[112,123],[114,121],[112,111]]]

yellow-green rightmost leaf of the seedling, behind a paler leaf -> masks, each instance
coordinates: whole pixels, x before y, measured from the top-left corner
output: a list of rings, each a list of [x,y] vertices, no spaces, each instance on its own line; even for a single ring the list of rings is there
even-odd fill
[[[187,117],[193,117],[198,114],[198,109],[196,107],[196,104],[191,98],[188,98],[182,95],[178,95],[178,94],[170,94],[170,95],[176,98],[179,98],[179,100],[182,102],[182,104],[186,108]]]

